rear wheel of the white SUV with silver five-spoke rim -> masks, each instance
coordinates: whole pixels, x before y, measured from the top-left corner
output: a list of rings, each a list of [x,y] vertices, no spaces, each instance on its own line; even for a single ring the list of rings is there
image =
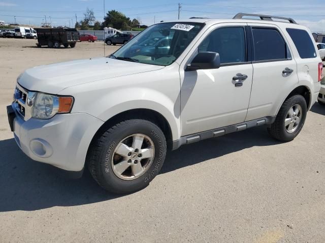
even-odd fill
[[[274,123],[268,127],[268,132],[277,140],[292,141],[303,128],[306,115],[305,98],[302,95],[291,96],[282,104]]]

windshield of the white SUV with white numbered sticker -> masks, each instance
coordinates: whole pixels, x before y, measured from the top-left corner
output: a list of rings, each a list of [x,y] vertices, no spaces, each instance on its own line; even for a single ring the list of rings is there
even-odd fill
[[[152,25],[110,57],[153,65],[170,65],[183,53],[203,25],[190,22]]]

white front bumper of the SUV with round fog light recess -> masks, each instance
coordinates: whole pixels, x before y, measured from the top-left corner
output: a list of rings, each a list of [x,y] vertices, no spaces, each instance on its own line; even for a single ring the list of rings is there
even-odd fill
[[[91,139],[103,124],[86,113],[25,121],[15,111],[13,132],[18,146],[31,159],[67,171],[82,171]]]

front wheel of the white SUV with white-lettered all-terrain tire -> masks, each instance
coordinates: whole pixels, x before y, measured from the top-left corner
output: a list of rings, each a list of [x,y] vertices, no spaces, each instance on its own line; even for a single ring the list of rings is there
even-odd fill
[[[151,121],[125,120],[92,142],[87,164],[92,177],[113,193],[143,189],[164,164],[167,144]]]

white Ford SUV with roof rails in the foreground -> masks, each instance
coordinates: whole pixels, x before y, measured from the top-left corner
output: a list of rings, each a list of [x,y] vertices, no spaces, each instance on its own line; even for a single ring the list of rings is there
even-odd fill
[[[293,19],[243,16],[256,15],[163,22],[109,57],[26,70],[7,107],[18,146],[127,193],[149,184],[168,148],[262,125],[293,140],[320,89],[316,44]]]

